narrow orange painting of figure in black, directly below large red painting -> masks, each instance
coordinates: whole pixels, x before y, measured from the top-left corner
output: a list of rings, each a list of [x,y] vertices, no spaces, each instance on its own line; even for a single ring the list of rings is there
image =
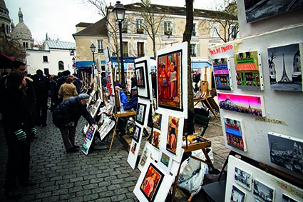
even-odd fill
[[[168,118],[168,138],[166,140],[166,149],[176,154],[178,141],[179,118],[169,116]]]

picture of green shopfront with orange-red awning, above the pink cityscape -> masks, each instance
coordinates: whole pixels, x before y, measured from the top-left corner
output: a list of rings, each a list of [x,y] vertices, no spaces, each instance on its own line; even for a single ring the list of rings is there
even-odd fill
[[[264,90],[261,54],[258,51],[235,53],[235,69],[238,89]]]

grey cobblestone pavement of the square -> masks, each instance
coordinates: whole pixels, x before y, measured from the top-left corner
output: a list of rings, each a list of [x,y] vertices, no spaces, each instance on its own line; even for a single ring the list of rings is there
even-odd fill
[[[31,178],[36,186],[18,186],[22,197],[11,200],[4,195],[7,148],[3,128],[0,127],[0,201],[137,201],[133,188],[140,171],[133,170],[127,163],[128,150],[119,138],[113,141],[111,153],[95,150],[86,156],[82,152],[66,153],[58,128],[51,123],[48,111],[48,126],[37,127],[38,139],[31,142]],[[76,142],[83,143],[81,128],[86,121],[78,124]],[[197,130],[199,130],[197,126]],[[215,167],[221,168],[228,151],[222,138],[220,120],[211,121],[205,138],[212,141]],[[110,143],[109,138],[108,143]],[[178,191],[176,201],[187,201]],[[194,196],[192,202],[201,201]]]

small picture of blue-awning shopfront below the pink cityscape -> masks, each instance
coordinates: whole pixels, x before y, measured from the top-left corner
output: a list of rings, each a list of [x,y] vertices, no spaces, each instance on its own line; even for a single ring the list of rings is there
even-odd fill
[[[229,146],[247,151],[243,133],[243,121],[224,117],[225,139]]]

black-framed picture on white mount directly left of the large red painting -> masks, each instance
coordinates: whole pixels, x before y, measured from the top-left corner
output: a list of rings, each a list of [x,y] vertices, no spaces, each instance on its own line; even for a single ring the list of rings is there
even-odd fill
[[[135,78],[137,79],[138,97],[150,99],[151,81],[148,79],[150,72],[150,58],[148,56],[135,60]]]

